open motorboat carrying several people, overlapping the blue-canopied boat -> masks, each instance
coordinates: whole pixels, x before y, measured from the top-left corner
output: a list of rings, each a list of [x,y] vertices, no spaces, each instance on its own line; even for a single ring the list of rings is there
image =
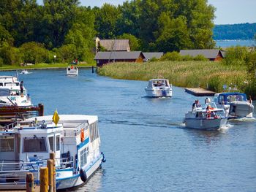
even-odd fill
[[[204,107],[194,107],[186,113],[184,123],[187,128],[202,130],[217,130],[225,126],[227,117],[222,108],[217,108],[214,102],[206,103]]]

